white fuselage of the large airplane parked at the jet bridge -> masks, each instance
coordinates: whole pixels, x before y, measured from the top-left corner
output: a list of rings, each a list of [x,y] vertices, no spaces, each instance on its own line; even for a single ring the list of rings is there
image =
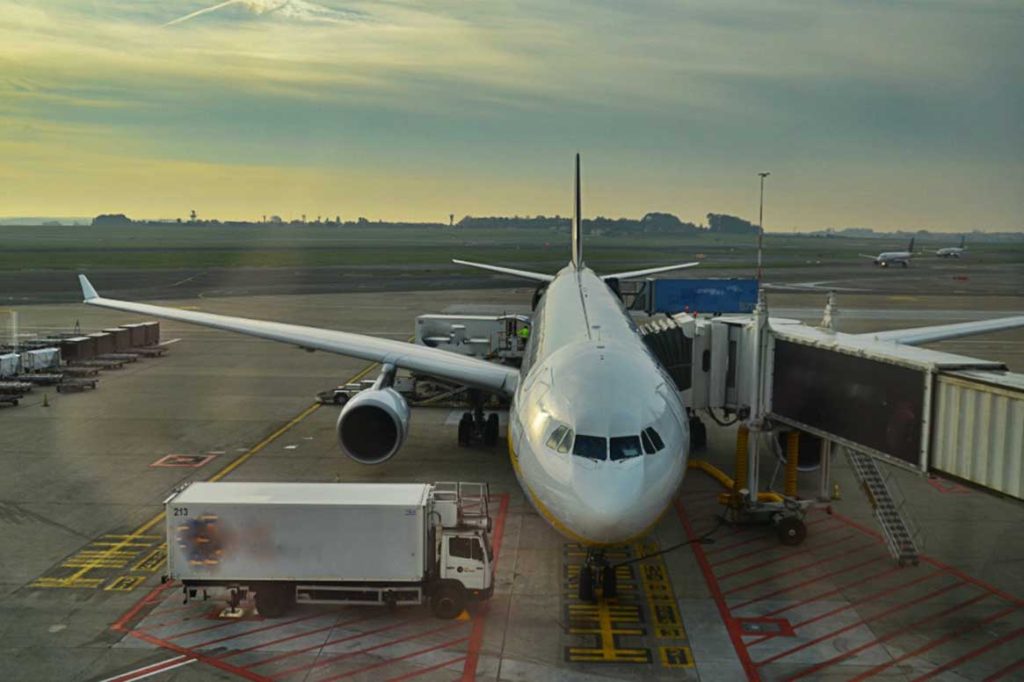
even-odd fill
[[[560,449],[559,428],[571,431]],[[641,436],[646,429],[656,438]],[[645,532],[683,479],[689,425],[679,393],[590,268],[562,269],[537,307],[508,438],[534,507],[586,545]]]

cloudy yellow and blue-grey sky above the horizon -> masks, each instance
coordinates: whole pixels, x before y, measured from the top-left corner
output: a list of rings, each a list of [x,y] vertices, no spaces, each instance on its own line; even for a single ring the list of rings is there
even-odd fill
[[[0,0],[0,216],[1024,229],[1020,0]]]

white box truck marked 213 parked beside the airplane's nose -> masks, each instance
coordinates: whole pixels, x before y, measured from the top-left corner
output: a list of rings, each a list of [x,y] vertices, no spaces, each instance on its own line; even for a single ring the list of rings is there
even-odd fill
[[[164,503],[167,574],[185,600],[249,593],[264,616],[296,603],[429,600],[452,619],[494,593],[485,483],[194,482]]]

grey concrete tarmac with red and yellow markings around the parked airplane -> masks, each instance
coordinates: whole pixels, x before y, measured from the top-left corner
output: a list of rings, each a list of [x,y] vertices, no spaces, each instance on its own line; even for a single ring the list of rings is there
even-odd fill
[[[898,272],[876,272],[868,279]],[[940,275],[936,275],[940,276]],[[943,276],[944,281],[944,274]],[[808,282],[811,282],[808,280]],[[800,283],[798,283],[800,284]],[[862,283],[863,284],[863,283]],[[844,331],[1020,314],[1000,286],[936,297],[842,293]],[[70,286],[74,286],[70,284]],[[102,291],[102,289],[101,289]],[[104,292],[105,293],[105,292]],[[517,309],[532,290],[204,296],[204,311],[408,338],[450,306]],[[119,293],[119,295],[122,295]],[[126,297],[130,291],[125,293]],[[816,319],[823,292],[774,291],[773,312]],[[23,331],[136,321],[78,304],[16,308]],[[990,311],[985,313],[983,311]],[[842,457],[841,499],[808,518],[807,541],[722,526],[721,488],[691,471],[650,537],[616,549],[623,596],[581,604],[582,559],[528,505],[501,445],[460,449],[449,408],[417,408],[403,449],[381,466],[338,450],[338,409],[317,391],[372,368],[325,353],[175,323],[169,352],[104,372],[95,392],[37,389],[0,410],[0,672],[12,680],[733,680],[1021,679],[1024,505],[893,470],[926,558],[897,568]],[[936,347],[1024,372],[1024,332]],[[48,407],[43,407],[43,396]],[[728,469],[731,429],[706,458]],[[170,464],[159,466],[168,456]],[[773,462],[765,463],[771,477]],[[187,480],[439,481],[490,484],[497,589],[464,620],[406,607],[302,606],[262,619],[244,604],[183,604],[162,586],[161,502]],[[802,474],[801,494],[818,486]],[[694,542],[712,531],[713,544]]]

